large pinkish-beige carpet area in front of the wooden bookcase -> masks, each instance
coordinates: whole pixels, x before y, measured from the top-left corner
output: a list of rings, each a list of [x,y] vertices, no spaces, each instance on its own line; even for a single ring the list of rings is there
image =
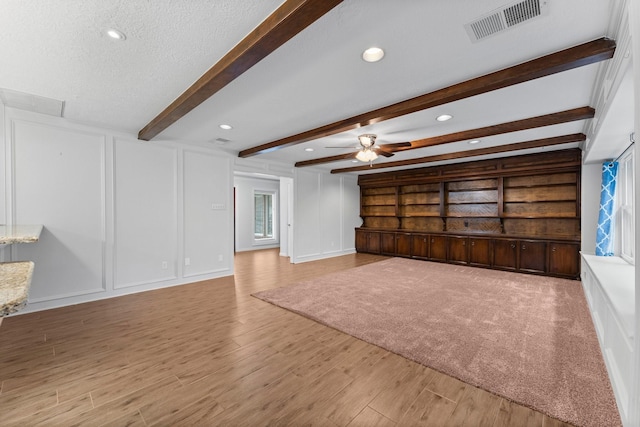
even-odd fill
[[[621,425],[579,281],[392,258],[254,296],[551,417]]]

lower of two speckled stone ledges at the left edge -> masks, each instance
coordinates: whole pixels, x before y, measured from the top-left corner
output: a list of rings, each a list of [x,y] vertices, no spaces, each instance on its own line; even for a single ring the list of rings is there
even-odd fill
[[[33,261],[0,263],[0,324],[27,304],[33,268]]]

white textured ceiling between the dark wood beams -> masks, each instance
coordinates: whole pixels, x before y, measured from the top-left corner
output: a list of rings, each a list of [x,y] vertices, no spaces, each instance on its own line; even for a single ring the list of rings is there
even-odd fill
[[[68,120],[137,134],[280,0],[2,0],[0,88],[64,101]],[[479,42],[464,24],[505,0],[345,0],[154,140],[237,153],[566,49],[611,32],[617,0],[550,0],[548,13]],[[109,39],[117,28],[127,39]],[[384,59],[361,59],[370,46]],[[618,54],[618,52],[616,53]],[[379,142],[427,138],[590,105],[600,64],[456,101],[357,131],[260,155],[295,161],[355,151],[357,135]],[[629,73],[631,74],[631,73]],[[629,79],[630,80],[630,79]],[[610,138],[628,143],[629,118]],[[454,118],[435,121],[443,112]],[[596,114],[599,114],[597,111]],[[228,123],[224,131],[219,124]],[[604,120],[603,120],[604,123]],[[604,125],[603,125],[604,126]],[[391,161],[585,131],[585,122],[406,151]],[[624,137],[623,137],[624,136]],[[217,138],[230,142],[219,144]],[[324,148],[343,146],[345,150]],[[571,147],[576,146],[569,145]],[[304,148],[314,148],[305,152]],[[553,149],[565,148],[554,147]],[[617,155],[609,147],[603,158]],[[600,156],[600,155],[599,155]],[[595,157],[598,156],[594,156]],[[384,162],[380,158],[376,162]],[[350,161],[322,167],[353,166]]]

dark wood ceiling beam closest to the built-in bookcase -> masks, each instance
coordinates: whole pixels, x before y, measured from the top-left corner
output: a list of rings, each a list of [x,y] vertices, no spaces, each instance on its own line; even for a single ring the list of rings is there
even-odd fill
[[[475,150],[457,151],[455,153],[438,154],[435,156],[420,157],[417,159],[398,160],[396,162],[374,163],[373,165],[354,166],[351,168],[333,169],[331,173],[359,172],[373,169],[391,168],[398,166],[411,166],[423,163],[441,162],[445,160],[463,159],[465,157],[483,156],[487,154],[507,153],[509,151],[526,150],[530,148],[550,147],[560,144],[583,142],[587,139],[583,133],[556,136],[553,138],[535,139],[532,141],[516,142],[513,144],[499,145],[497,147],[478,148]]]

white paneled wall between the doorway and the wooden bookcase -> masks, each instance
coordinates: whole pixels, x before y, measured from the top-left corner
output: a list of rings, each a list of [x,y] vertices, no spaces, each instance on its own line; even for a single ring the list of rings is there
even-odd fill
[[[294,263],[355,252],[360,226],[357,178],[299,168],[294,190]]]

